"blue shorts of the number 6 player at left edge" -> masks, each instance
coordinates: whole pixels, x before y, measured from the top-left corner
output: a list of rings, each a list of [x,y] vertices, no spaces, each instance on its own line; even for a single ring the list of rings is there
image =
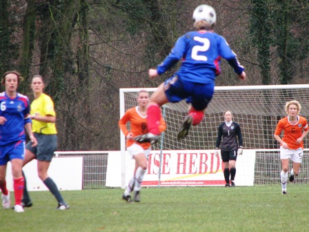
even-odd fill
[[[25,142],[13,142],[0,146],[0,165],[6,165],[14,159],[23,160],[25,156]]]

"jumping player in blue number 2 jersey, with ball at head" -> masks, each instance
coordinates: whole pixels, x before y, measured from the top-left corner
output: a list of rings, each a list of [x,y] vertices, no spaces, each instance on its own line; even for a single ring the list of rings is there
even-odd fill
[[[148,133],[134,139],[137,142],[155,143],[159,139],[160,107],[168,102],[186,99],[190,104],[188,116],[184,119],[177,134],[178,139],[188,135],[191,125],[203,119],[205,110],[212,99],[215,77],[220,74],[221,57],[228,61],[241,80],[246,80],[246,72],[230,49],[226,39],[212,31],[216,22],[216,12],[208,5],[198,6],[193,12],[193,26],[197,31],[187,32],[177,39],[168,57],[157,66],[150,68],[150,79],[163,74],[182,60],[179,70],[163,82],[152,94],[148,105]]]

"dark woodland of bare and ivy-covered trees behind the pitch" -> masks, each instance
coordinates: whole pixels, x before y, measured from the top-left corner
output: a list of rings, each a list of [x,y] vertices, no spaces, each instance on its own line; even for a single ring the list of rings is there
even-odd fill
[[[192,12],[217,12],[215,32],[246,68],[241,82],[222,61],[217,86],[307,84],[309,1],[0,0],[0,72],[19,70],[32,101],[41,74],[55,102],[59,151],[119,150],[119,88],[157,87],[177,69],[148,79]],[[3,88],[2,88],[3,90]],[[1,91],[2,91],[1,90]]]

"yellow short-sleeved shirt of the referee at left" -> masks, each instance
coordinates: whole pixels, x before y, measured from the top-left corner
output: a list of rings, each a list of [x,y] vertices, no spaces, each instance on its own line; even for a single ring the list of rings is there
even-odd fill
[[[54,111],[54,101],[52,101],[50,96],[42,93],[41,96],[32,101],[30,114],[36,116],[56,116]],[[32,132],[44,135],[55,135],[57,134],[57,129],[56,125],[52,122],[39,122],[32,119]]]

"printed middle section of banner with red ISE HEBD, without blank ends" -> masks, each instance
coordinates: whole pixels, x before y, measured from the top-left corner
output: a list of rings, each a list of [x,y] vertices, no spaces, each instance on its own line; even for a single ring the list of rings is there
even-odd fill
[[[160,151],[151,153],[148,171],[142,185],[157,186]],[[204,186],[225,184],[221,159],[210,151],[164,151],[162,153],[162,186]]]

